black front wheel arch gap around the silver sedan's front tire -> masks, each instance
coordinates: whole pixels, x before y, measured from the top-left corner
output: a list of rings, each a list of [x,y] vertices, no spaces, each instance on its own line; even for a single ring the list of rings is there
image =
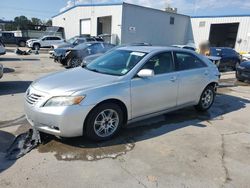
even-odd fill
[[[89,115],[91,114],[91,112],[97,108],[98,106],[102,105],[102,104],[107,104],[107,103],[112,103],[112,104],[116,104],[118,105],[122,112],[123,112],[123,115],[124,115],[124,118],[123,118],[123,125],[125,125],[128,121],[128,108],[127,106],[125,105],[124,102],[122,102],[121,100],[119,99],[115,99],[115,98],[111,98],[111,99],[106,99],[102,102],[99,102],[97,105],[95,105],[91,110],[90,112],[88,113],[88,115],[86,116],[85,120],[84,120],[84,123],[83,123],[83,132],[85,132],[85,129],[86,129],[86,122],[87,122],[87,119],[89,118]]]

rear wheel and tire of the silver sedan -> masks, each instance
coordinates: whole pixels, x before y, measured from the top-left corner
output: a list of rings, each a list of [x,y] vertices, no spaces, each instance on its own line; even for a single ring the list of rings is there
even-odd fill
[[[209,110],[214,103],[214,99],[215,99],[214,87],[209,85],[202,92],[200,101],[198,105],[195,106],[195,109],[200,112],[205,112]]]

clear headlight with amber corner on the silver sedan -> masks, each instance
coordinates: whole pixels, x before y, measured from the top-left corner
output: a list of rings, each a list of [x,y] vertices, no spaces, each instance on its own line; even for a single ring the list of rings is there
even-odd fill
[[[84,98],[85,96],[52,97],[44,104],[44,107],[77,105],[80,104]]]

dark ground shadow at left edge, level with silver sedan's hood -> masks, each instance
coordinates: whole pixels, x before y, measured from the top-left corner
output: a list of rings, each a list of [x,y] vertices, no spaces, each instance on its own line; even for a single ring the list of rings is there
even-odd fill
[[[0,81],[0,96],[24,93],[31,81]]]

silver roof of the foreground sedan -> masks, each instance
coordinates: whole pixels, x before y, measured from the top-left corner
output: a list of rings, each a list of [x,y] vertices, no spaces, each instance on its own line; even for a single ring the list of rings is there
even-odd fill
[[[154,51],[183,51],[183,52],[190,52],[190,50],[176,48],[176,47],[165,47],[165,46],[124,46],[118,48],[120,50],[129,50],[129,51],[139,51],[145,53],[151,53]]]

